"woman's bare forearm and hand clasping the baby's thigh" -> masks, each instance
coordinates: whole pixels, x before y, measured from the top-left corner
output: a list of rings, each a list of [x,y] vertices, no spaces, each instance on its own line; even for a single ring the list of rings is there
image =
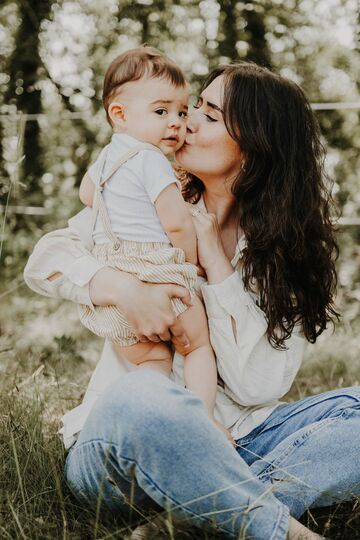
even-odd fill
[[[189,339],[173,312],[171,298],[191,306],[189,292],[179,285],[144,283],[115,268],[102,268],[90,281],[90,298],[95,305],[117,305],[138,339],[159,342],[173,336],[184,346]]]

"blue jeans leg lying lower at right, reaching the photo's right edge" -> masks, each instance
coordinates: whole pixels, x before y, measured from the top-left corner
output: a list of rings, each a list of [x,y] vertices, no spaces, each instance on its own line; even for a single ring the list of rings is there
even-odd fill
[[[360,387],[280,405],[237,445],[295,518],[359,496]]]

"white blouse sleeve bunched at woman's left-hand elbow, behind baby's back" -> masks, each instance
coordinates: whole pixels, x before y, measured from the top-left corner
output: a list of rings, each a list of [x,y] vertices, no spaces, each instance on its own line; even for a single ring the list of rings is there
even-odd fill
[[[24,279],[39,294],[93,308],[89,282],[103,267],[75,227],[68,227],[50,232],[38,241],[25,266]],[[57,273],[59,277],[48,279]]]

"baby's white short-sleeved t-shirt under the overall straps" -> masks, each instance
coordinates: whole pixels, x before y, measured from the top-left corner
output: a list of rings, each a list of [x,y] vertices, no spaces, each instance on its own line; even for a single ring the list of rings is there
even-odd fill
[[[92,181],[96,184],[101,174],[104,152],[103,177],[123,154],[138,144],[134,137],[115,133],[110,144],[105,146],[89,168]],[[136,242],[170,243],[156,213],[155,201],[167,186],[174,183],[181,188],[169,161],[158,151],[142,150],[124,163],[106,182],[102,192],[114,234],[118,238]],[[95,244],[109,242],[99,217],[93,239]]]

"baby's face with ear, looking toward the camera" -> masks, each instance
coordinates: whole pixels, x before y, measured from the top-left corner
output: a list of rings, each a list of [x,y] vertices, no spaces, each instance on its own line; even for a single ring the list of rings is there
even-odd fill
[[[176,87],[166,79],[148,77],[131,81],[114,98],[123,106],[123,118],[114,129],[153,144],[168,156],[184,144],[188,100],[188,85]]]

